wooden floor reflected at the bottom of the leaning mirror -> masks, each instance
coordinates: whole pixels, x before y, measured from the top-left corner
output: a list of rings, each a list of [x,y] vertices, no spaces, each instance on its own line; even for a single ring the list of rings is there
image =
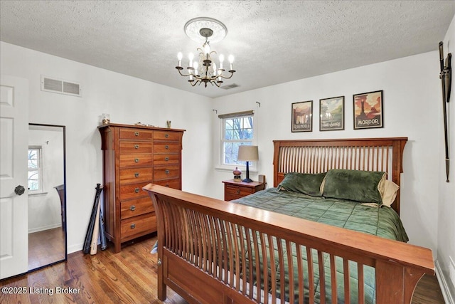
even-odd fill
[[[28,270],[65,258],[65,231],[62,227],[28,234]]]

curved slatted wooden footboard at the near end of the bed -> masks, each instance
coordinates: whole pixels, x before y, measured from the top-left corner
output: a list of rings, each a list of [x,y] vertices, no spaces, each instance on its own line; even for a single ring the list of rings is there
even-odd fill
[[[158,295],[189,303],[410,303],[432,251],[149,184]],[[373,289],[365,282],[373,278]]]

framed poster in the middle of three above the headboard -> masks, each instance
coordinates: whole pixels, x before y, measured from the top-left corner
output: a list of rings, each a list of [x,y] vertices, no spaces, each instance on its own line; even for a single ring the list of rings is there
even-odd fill
[[[319,130],[344,130],[344,96],[319,100]]]

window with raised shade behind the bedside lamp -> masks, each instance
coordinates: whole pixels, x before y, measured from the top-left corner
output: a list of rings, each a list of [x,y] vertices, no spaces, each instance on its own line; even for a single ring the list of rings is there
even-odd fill
[[[219,115],[223,120],[222,159],[223,165],[244,165],[237,161],[239,146],[252,145],[253,141],[253,112],[240,112]]]

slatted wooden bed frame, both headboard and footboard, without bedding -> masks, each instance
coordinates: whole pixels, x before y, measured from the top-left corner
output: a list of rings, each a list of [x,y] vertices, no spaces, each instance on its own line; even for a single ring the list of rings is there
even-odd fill
[[[406,141],[405,137],[274,141],[274,187],[287,172],[317,173],[335,168],[385,171],[400,185]],[[269,267],[274,263],[289,273],[290,298],[303,295],[306,288],[299,279],[294,290],[294,272],[301,278],[304,268],[309,269],[309,303],[314,302],[314,273],[319,273],[321,286],[326,281],[335,286],[331,288],[332,303],[337,301],[337,284],[344,286],[345,303],[364,303],[363,266],[374,267],[378,304],[411,303],[419,279],[425,273],[434,275],[432,251],[428,248],[155,184],[144,189],[154,202],[158,221],[160,300],[166,299],[168,286],[189,303],[284,303],[284,283],[281,290],[276,290],[269,282],[284,282],[284,271],[277,273]],[[393,205],[400,212],[399,194]],[[273,241],[279,243],[277,252],[265,246]],[[301,260],[303,252],[310,257],[309,262],[292,265],[291,249],[299,257],[296,261]],[[317,252],[319,262],[329,255],[330,276],[324,275],[323,266],[313,269],[310,252]],[[335,276],[338,258],[343,258],[343,280]],[[356,286],[350,286],[350,261],[357,263]],[[252,278],[253,268],[256,282],[236,275],[250,271]],[[271,285],[269,293],[261,292],[261,286]],[[358,288],[358,299],[350,298],[350,288]],[[324,299],[325,288],[320,290]],[[299,303],[304,303],[303,296]]]

